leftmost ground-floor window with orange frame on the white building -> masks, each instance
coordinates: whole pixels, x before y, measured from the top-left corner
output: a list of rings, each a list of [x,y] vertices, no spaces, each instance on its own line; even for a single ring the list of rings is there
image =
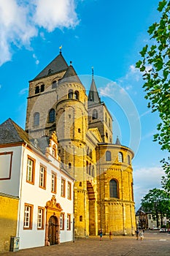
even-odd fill
[[[23,229],[32,229],[33,222],[33,205],[25,203],[24,205],[24,220],[23,220]]]

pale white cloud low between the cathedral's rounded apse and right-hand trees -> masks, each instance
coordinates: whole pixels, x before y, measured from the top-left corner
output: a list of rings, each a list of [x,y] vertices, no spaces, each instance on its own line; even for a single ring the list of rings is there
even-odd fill
[[[161,188],[161,177],[164,171],[161,167],[142,167],[134,171],[134,200],[138,210],[142,197],[150,189]]]

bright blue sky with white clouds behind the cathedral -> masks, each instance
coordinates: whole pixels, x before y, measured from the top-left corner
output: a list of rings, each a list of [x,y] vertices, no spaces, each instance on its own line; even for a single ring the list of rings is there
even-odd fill
[[[135,152],[136,208],[149,189],[161,186],[159,161],[167,156],[152,142],[159,118],[147,109],[135,69],[149,40],[147,29],[159,18],[157,7],[158,0],[0,0],[0,123],[10,117],[25,128],[28,81],[62,45],[87,91],[94,67],[96,86],[114,119],[114,141],[118,135]]]

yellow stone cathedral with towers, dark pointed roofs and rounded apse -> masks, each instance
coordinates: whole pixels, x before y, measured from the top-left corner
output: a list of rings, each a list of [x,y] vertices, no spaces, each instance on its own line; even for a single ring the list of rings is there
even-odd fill
[[[26,132],[41,148],[57,136],[61,165],[74,178],[75,237],[96,236],[99,229],[134,235],[134,152],[119,138],[112,141],[112,116],[93,74],[89,86],[87,95],[60,51],[29,81]]]

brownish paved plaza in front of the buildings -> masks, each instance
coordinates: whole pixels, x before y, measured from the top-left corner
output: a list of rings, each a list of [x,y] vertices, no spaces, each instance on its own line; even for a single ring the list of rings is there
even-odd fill
[[[144,240],[137,241],[135,236],[108,236],[79,238],[74,242],[43,246],[32,249],[21,249],[18,252],[5,252],[0,256],[168,256],[170,255],[170,234],[158,231],[145,231]]]

